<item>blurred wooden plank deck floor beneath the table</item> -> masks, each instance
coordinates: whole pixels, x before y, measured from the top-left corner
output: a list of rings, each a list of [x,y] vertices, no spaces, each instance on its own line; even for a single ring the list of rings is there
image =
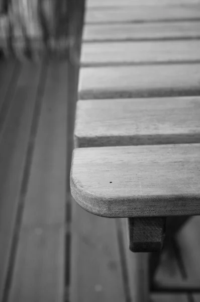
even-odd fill
[[[2,302],[134,301],[123,219],[91,215],[70,197],[71,68],[0,61]],[[199,227],[193,217],[179,232],[181,257],[163,251],[152,301],[200,300]]]

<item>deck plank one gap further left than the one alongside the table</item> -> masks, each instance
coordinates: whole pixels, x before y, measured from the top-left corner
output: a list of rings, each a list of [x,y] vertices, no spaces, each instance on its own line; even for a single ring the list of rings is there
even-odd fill
[[[3,70],[5,78],[7,78],[7,71]],[[9,71],[11,71],[10,68],[8,68]],[[16,91],[14,90],[14,97],[12,100],[7,100],[11,102],[11,108],[1,133],[0,300],[2,299],[1,295],[4,294],[39,75],[40,67],[29,64],[22,66]],[[12,86],[10,89],[12,89]]]

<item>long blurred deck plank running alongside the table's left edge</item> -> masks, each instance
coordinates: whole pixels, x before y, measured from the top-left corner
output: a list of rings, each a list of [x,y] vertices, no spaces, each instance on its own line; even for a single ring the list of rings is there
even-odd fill
[[[51,63],[26,194],[9,301],[63,301],[66,63]],[[20,273],[19,273],[20,272]]]

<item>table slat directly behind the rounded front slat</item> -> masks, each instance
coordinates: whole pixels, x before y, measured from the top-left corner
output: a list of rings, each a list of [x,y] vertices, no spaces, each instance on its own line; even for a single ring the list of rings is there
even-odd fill
[[[200,142],[200,98],[81,100],[76,147]]]

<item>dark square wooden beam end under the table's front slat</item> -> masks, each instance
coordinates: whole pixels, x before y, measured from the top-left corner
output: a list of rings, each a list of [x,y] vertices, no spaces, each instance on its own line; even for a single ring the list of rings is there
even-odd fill
[[[163,247],[166,217],[128,218],[129,249],[159,252]]]

